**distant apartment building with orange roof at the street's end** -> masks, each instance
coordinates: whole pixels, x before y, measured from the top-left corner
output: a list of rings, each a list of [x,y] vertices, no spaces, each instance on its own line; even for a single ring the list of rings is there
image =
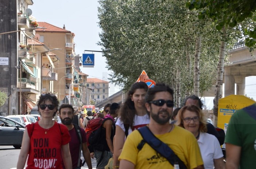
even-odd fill
[[[98,78],[87,78],[87,87],[90,91],[90,103],[98,103],[108,97],[109,82]]]

